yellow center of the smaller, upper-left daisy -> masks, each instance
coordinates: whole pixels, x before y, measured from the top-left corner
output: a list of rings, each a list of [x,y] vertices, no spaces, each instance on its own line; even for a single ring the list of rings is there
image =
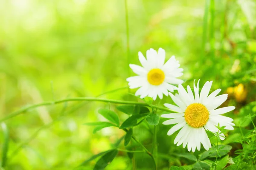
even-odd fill
[[[163,83],[165,76],[162,70],[159,68],[153,68],[148,72],[148,82],[151,85],[160,85]]]

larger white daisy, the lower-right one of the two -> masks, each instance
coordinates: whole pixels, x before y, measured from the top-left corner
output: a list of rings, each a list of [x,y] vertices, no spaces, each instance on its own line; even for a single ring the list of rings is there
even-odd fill
[[[170,118],[169,120],[163,122],[163,125],[174,125],[167,133],[167,135],[172,135],[175,131],[180,130],[177,134],[174,144],[177,146],[183,143],[183,147],[186,145],[188,150],[195,152],[195,148],[200,150],[201,143],[206,150],[211,147],[210,140],[207,136],[206,130],[211,131],[215,135],[218,133],[218,124],[220,127],[225,126],[224,129],[233,130],[234,123],[233,119],[222,116],[221,114],[233,111],[234,106],[228,106],[224,108],[218,108],[223,102],[227,100],[227,94],[218,95],[221,89],[213,91],[209,96],[209,91],[212,86],[212,81],[206,82],[201,90],[199,96],[199,80],[197,86],[195,87],[194,81],[194,91],[195,96],[192,93],[189,85],[187,86],[187,91],[182,85],[178,86],[178,93],[170,93],[175,105],[164,104],[167,108],[177,113],[163,114],[161,117]],[[218,108],[218,109],[216,109]],[[223,133],[219,132],[221,140],[224,140],[225,136]]]

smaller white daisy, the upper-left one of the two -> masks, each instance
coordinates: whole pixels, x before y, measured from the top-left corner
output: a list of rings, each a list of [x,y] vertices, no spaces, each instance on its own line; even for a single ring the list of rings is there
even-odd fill
[[[165,51],[159,48],[158,53],[153,48],[147,51],[147,59],[139,52],[139,60],[143,67],[130,64],[130,68],[138,76],[129,77],[126,80],[131,89],[139,88],[136,96],[144,98],[152,97],[154,100],[159,96],[163,99],[163,94],[168,96],[168,91],[173,92],[177,89],[174,85],[183,83],[183,80],[177,79],[183,75],[179,61],[172,56],[166,63]]]

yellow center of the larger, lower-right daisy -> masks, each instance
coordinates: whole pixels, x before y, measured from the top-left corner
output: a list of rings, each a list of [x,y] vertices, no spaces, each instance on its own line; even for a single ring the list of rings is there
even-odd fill
[[[198,128],[207,123],[209,112],[201,103],[193,103],[186,108],[184,117],[190,126]]]

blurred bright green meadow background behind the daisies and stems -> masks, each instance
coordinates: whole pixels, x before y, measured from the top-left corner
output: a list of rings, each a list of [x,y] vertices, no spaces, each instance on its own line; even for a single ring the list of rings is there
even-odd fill
[[[128,86],[128,75],[135,75],[131,70],[128,73],[128,61],[139,64],[138,51],[145,54],[149,48],[161,47],[166,50],[166,60],[172,55],[180,60],[184,85],[199,78],[201,86],[213,80],[212,90],[221,88],[221,93],[230,94],[224,105],[236,106],[234,113],[226,115],[241,119],[240,108],[253,103],[256,96],[256,2],[127,1],[129,59],[124,0],[0,0],[0,118],[24,105],[97,96],[117,88],[122,89],[102,98],[137,100],[123,88]],[[167,97],[164,100],[171,102]],[[253,108],[255,102],[251,105]],[[104,121],[97,110],[116,111],[115,106],[68,102],[32,109],[7,120],[6,169],[70,170],[111,149],[125,134],[122,130],[109,127],[93,134],[93,127],[82,124]],[[121,122],[128,117],[118,114]],[[145,127],[140,125],[134,134],[147,146],[151,134]],[[250,122],[244,127],[250,128]],[[159,125],[159,152],[186,152],[173,144],[175,135],[166,135],[169,128]],[[0,141],[1,146],[2,132]],[[142,164],[151,165],[146,155],[137,156],[136,161],[138,169]],[[172,164],[189,162],[159,160],[160,169]],[[107,169],[131,167],[126,153],[119,152]]]

